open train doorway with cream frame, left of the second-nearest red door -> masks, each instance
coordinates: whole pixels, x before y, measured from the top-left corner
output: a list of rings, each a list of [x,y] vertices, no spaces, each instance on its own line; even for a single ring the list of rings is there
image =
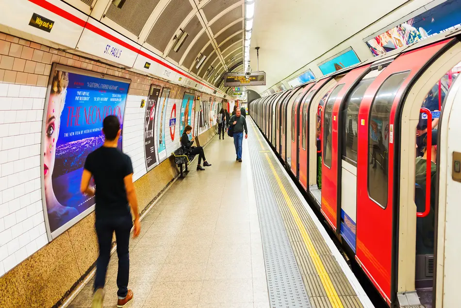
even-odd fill
[[[321,137],[321,117],[319,116],[319,110],[324,106],[329,93],[336,86],[337,81],[341,77],[330,77],[320,80],[311,91],[313,97],[307,107],[308,112],[308,187],[309,194],[314,200],[314,204],[320,208],[322,201],[322,164],[321,155],[322,150],[320,147]]]

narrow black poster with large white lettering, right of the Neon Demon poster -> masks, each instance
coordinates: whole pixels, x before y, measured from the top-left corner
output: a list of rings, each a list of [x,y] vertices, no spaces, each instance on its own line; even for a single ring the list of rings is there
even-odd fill
[[[157,101],[159,99],[160,88],[151,85],[149,96],[146,103],[146,111],[144,113],[144,151],[146,154],[146,169],[147,171],[154,168],[157,162],[154,138],[154,125]]]

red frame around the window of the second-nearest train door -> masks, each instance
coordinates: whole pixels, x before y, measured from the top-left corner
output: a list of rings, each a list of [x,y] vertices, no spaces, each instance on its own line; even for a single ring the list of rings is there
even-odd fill
[[[327,107],[327,103],[333,103],[332,114],[331,114],[331,158],[330,166],[326,165],[325,151],[322,151],[322,204],[321,212],[327,219],[331,227],[335,230],[336,235],[339,236],[341,225],[341,149],[340,149],[340,136],[338,128],[341,127],[341,108],[346,100],[349,92],[362,80],[370,70],[370,66],[363,66],[355,68],[348,72],[341,80],[338,85],[333,89],[331,95],[334,95],[335,89],[341,90],[336,95],[334,102],[330,102],[330,97],[325,103],[324,110]],[[332,97],[331,97],[332,98]],[[325,149],[324,140],[324,118],[326,112],[322,115],[322,137],[321,145],[322,149]]]

